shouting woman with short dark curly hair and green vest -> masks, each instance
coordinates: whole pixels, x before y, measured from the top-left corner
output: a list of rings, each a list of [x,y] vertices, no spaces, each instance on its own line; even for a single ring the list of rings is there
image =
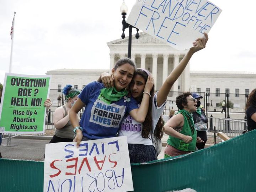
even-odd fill
[[[190,92],[184,92],[176,97],[176,105],[179,111],[164,126],[164,132],[169,135],[165,158],[191,153],[197,142],[203,142],[197,138],[192,116],[192,112],[197,110],[197,100]]]

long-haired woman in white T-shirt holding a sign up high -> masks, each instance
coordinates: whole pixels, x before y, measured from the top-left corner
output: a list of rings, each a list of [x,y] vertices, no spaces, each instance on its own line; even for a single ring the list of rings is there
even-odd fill
[[[142,102],[142,97],[144,97],[144,95],[150,96],[150,102],[149,110],[143,123],[136,121],[136,119],[127,114],[123,119],[121,128],[118,132],[119,136],[127,136],[131,163],[157,160],[157,155],[161,151],[161,146],[160,150],[156,151],[154,148],[154,137],[156,137],[157,140],[161,139],[163,136],[163,121],[160,117],[165,108],[167,96],[172,85],[181,75],[192,55],[198,50],[203,49],[206,46],[207,41],[208,36],[205,33],[205,38],[199,38],[196,42],[193,42],[193,47],[188,50],[185,57],[167,77],[156,94],[154,94],[154,86],[151,92],[146,92],[144,89],[146,79],[150,74],[149,71],[145,69],[137,69],[132,83],[129,86],[130,94],[137,100],[139,103],[138,105]],[[115,79],[111,78],[110,75],[102,75],[102,82],[104,82],[106,86],[111,86],[113,81],[115,81]],[[154,133],[154,137],[152,136],[152,133]]]

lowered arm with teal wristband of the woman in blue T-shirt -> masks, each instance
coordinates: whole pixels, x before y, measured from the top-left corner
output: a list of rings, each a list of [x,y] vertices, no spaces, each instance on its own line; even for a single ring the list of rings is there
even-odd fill
[[[75,102],[75,105],[73,105],[73,107],[70,109],[69,111],[69,119],[70,119],[70,123],[72,124],[72,126],[75,127],[79,127],[79,119],[78,119],[78,112],[81,110],[82,107],[84,107],[85,103],[83,103],[80,98],[78,98]],[[73,142],[77,142],[76,146],[78,147],[80,145],[80,142],[82,140],[82,130],[81,129],[76,129],[76,136],[73,140]]]

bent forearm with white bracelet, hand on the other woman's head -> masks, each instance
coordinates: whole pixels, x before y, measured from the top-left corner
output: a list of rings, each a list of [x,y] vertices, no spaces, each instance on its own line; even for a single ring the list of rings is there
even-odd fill
[[[154,79],[152,74],[148,76],[148,80],[146,82],[146,85],[144,87],[144,92],[147,92],[150,94],[150,91],[154,85]],[[146,118],[146,114],[148,113],[148,108],[149,108],[149,100],[150,96],[149,94],[144,93],[142,97],[142,102],[140,103],[140,107],[138,109],[134,109],[130,111],[130,116],[132,116],[135,121],[143,123]]]

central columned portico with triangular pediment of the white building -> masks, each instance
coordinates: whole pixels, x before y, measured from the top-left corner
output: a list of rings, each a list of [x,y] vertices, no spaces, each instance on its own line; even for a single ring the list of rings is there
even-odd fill
[[[127,57],[128,37],[107,43],[110,48],[110,70],[119,58]],[[137,68],[149,69],[155,80],[155,89],[158,90],[171,71],[178,65],[187,51],[176,50],[159,41],[145,32],[140,33],[139,39],[132,37],[131,59]],[[175,82],[171,91],[189,90],[189,64]]]

